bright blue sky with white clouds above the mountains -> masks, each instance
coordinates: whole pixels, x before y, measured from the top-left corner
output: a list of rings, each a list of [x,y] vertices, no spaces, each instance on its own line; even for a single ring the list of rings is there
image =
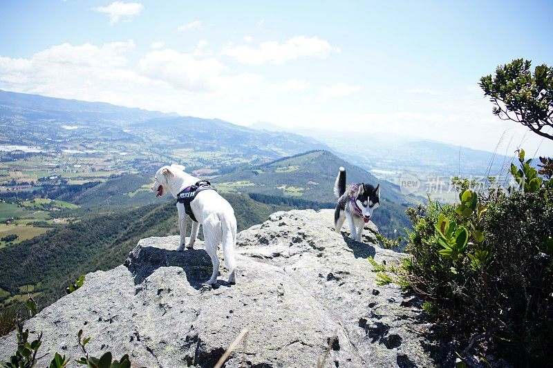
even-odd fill
[[[0,89],[493,151],[482,75],[553,65],[551,1],[1,1]],[[507,142],[512,145],[507,147]]]

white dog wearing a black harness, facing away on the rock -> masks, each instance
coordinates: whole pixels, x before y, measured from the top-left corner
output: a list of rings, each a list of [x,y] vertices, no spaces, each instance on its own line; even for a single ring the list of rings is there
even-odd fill
[[[180,165],[163,166],[156,173],[156,182],[151,187],[152,191],[158,192],[156,197],[171,192],[175,198],[180,198],[179,194],[189,194],[195,191],[195,184],[200,182],[194,177],[184,172],[185,167]],[[212,189],[211,186],[207,189]],[[192,193],[194,194],[194,193]],[[182,195],[181,195],[182,197]],[[191,197],[191,195],[187,195]],[[186,219],[191,217],[192,229],[190,239],[186,247],[191,249],[196,242],[198,227],[203,226],[203,236],[205,239],[205,250],[213,263],[212,277],[207,284],[215,284],[219,271],[219,260],[217,258],[217,248],[219,243],[223,243],[223,255],[225,257],[225,266],[229,269],[229,283],[236,282],[236,262],[234,260],[234,248],[236,246],[236,217],[232,206],[214,190],[198,191],[194,200],[189,202],[191,215],[187,215],[185,204],[177,202],[178,210],[178,228],[180,230],[180,244],[177,251],[182,251],[185,246]]]

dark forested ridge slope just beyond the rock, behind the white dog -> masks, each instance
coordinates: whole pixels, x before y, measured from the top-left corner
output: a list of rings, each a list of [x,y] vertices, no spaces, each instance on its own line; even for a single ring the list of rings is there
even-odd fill
[[[274,211],[290,209],[255,202],[245,195],[227,193],[225,197],[236,213],[238,230],[263,222]],[[0,249],[0,291],[5,291],[0,302],[9,304],[28,289],[42,309],[63,296],[79,275],[121,264],[141,238],[178,234],[173,200],[111,210],[100,215],[93,211],[75,224]],[[17,267],[13,260],[18,260]]]

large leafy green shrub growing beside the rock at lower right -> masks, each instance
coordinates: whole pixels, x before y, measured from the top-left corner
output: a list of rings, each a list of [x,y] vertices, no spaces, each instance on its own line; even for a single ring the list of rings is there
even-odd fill
[[[400,276],[464,354],[486,338],[515,365],[543,366],[553,360],[553,190],[523,151],[519,161],[521,191],[478,195],[465,182],[458,204],[409,209],[413,258]]]

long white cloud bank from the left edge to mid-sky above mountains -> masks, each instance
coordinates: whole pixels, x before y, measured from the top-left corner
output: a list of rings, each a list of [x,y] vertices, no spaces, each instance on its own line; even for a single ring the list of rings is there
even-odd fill
[[[204,46],[205,41],[198,43]],[[29,59],[0,56],[0,89],[172,111],[182,109],[184,101],[192,104],[192,97],[245,101],[263,90],[261,75],[236,74],[195,53],[153,49],[129,65],[134,47],[132,40],[103,46],[63,43]]]

